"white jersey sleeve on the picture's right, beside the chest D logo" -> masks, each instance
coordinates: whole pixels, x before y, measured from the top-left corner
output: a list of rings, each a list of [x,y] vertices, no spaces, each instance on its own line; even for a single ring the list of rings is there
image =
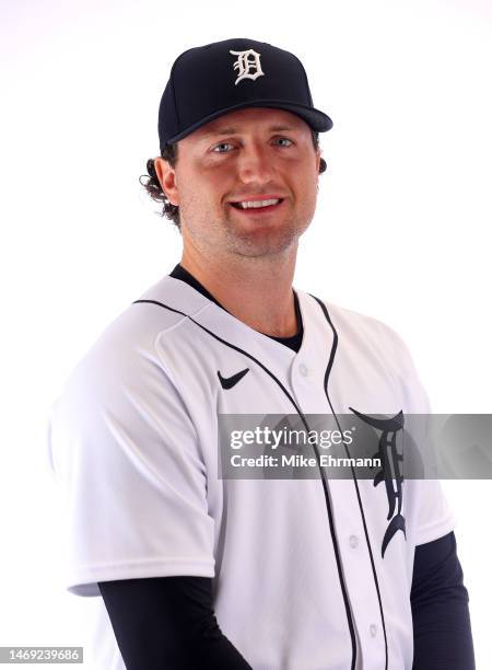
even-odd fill
[[[387,327],[387,326],[385,326]],[[421,415],[423,435],[429,429],[429,418],[432,413],[429,395],[422,385],[414,360],[402,338],[388,328],[393,340],[396,374],[402,389],[402,403],[406,414]],[[425,444],[425,439],[423,444]],[[409,521],[413,524],[414,544],[425,544],[437,540],[456,527],[456,518],[444,494],[441,482],[435,478],[408,480],[407,489],[412,499],[412,510]]]

